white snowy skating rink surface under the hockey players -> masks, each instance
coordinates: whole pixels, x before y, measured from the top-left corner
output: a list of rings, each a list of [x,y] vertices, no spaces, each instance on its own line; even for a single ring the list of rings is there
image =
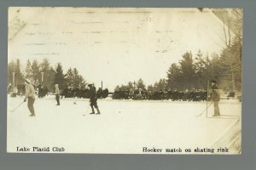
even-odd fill
[[[17,147],[30,148],[28,152],[33,152],[32,147],[49,147],[54,152],[51,149],[58,147],[64,153],[154,154],[143,152],[147,147],[163,149],[161,154],[180,154],[165,151],[174,148],[180,148],[182,154],[195,154],[197,147],[211,148],[227,133],[239,133],[241,147],[241,103],[237,100],[221,100],[223,116],[216,118],[212,117],[213,105],[207,114],[198,116],[207,102],[99,99],[102,114],[90,115],[89,99],[61,99],[57,106],[54,96],[36,99],[35,117],[29,116],[26,103],[11,112],[22,101],[21,97],[8,97],[9,152],[16,152]],[[228,146],[228,142],[221,144],[222,148]],[[230,148],[228,153],[215,154],[236,152]]]

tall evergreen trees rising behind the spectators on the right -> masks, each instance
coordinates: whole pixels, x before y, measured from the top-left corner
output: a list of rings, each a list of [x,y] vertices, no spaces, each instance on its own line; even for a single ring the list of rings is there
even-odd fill
[[[143,79],[119,85],[115,90],[142,88],[148,91],[168,89],[207,89],[211,80],[227,92],[241,92],[241,37],[235,37],[230,46],[220,54],[203,55],[201,50],[195,56],[186,52],[177,63],[172,63],[166,71],[166,77],[146,86]]]

